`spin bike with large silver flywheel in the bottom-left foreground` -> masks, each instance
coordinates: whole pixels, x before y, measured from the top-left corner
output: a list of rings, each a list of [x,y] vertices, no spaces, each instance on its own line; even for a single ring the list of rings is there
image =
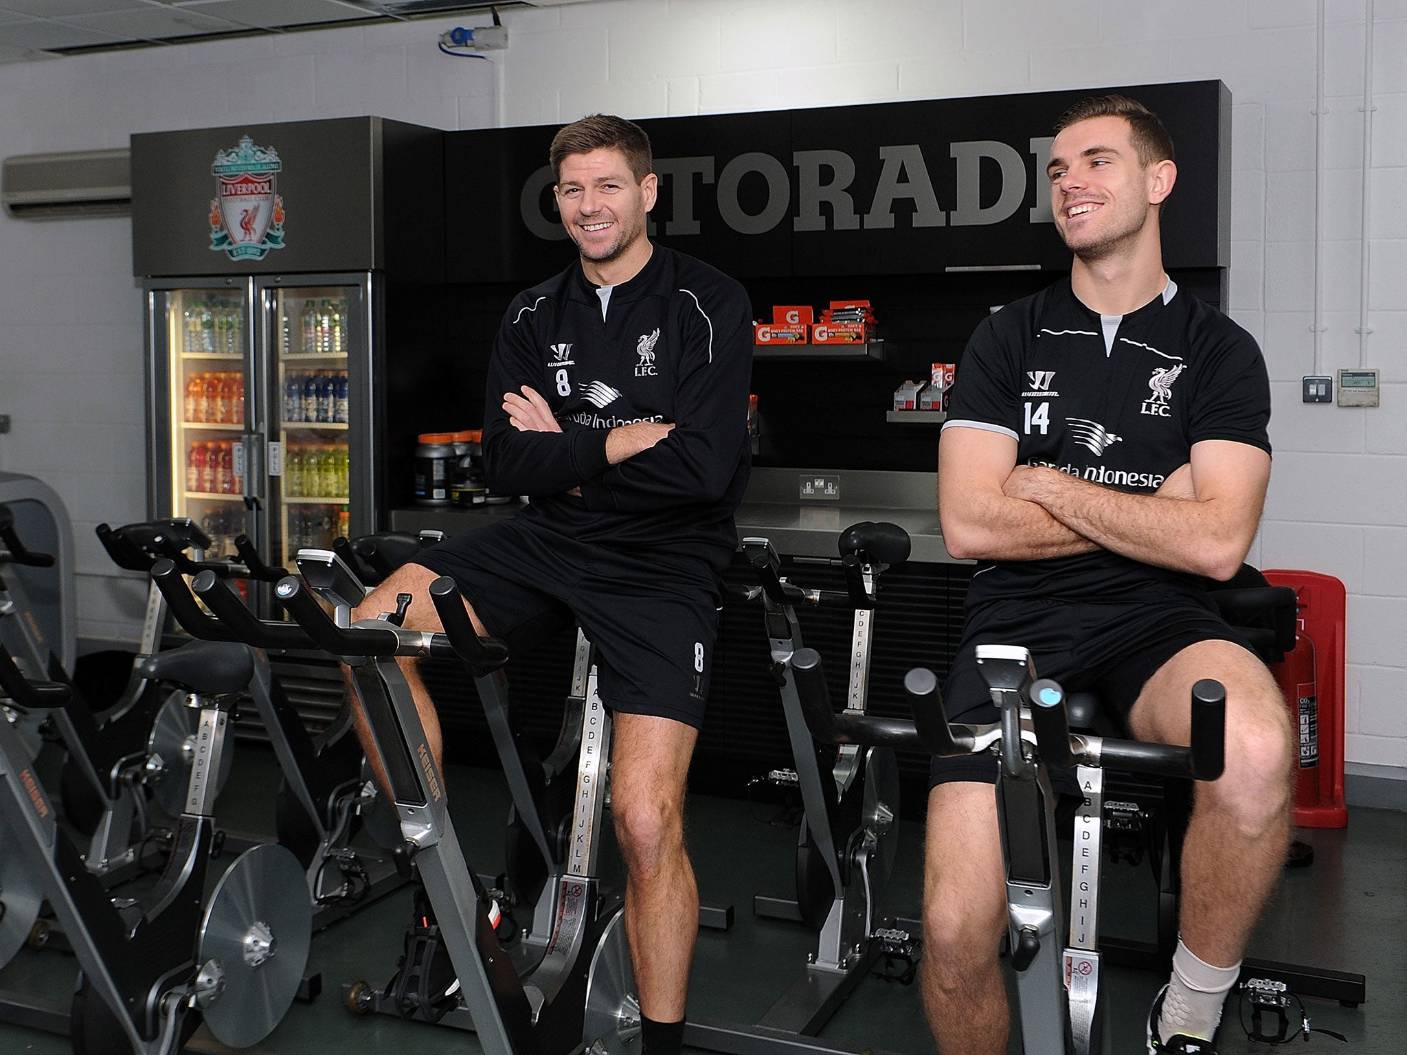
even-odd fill
[[[293,1003],[311,937],[311,906],[284,893],[301,882],[301,868],[283,847],[242,854],[205,900],[215,774],[236,693],[252,674],[249,653],[191,643],[146,657],[142,674],[183,686],[200,719],[170,857],[139,899],[114,900],[84,867],[24,741],[0,722],[0,831],[8,836],[8,854],[39,878],[38,892],[82,968],[63,1021],[28,1021],[68,1032],[76,1055],[174,1055],[203,1018],[222,1044],[249,1047]],[[31,681],[0,648],[6,706],[37,715],[70,695],[68,685]]]

